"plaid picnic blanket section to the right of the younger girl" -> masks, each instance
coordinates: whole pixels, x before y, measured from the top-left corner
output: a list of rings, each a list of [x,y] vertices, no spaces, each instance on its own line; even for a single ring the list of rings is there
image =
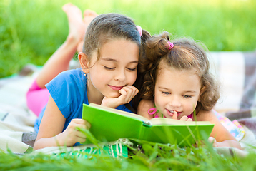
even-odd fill
[[[210,60],[222,84],[215,110],[245,125],[256,137],[256,51],[211,52]]]

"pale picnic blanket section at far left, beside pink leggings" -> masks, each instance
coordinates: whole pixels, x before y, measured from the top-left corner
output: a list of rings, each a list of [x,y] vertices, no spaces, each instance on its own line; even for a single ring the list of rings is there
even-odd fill
[[[36,140],[36,115],[26,107],[26,91],[32,76],[0,79],[0,149],[12,152],[31,151]]]

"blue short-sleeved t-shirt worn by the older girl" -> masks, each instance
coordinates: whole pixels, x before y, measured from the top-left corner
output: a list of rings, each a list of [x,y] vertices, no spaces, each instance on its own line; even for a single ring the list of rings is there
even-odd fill
[[[66,118],[63,130],[66,130],[72,119],[82,118],[82,104],[88,104],[88,98],[87,77],[84,76],[80,68],[59,73],[56,78],[46,84],[46,88],[49,90],[62,115]],[[38,133],[45,108],[46,106],[41,110],[39,117],[36,119],[34,125],[36,133]],[[117,109],[132,113],[124,105],[119,105]]]

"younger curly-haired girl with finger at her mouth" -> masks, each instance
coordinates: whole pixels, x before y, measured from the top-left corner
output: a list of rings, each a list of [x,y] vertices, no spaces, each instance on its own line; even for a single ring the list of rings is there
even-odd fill
[[[144,50],[144,90],[138,114],[147,118],[163,115],[179,120],[210,121],[215,124],[210,134],[213,147],[241,149],[212,110],[220,91],[199,43],[187,38],[169,41],[168,33],[164,32],[149,38]]]

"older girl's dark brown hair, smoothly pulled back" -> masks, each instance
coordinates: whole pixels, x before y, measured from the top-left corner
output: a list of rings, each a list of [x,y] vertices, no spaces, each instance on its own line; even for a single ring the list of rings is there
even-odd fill
[[[105,43],[113,40],[125,39],[132,41],[137,44],[139,47],[139,63],[140,58],[143,53],[144,43],[147,38],[150,37],[150,34],[142,30],[142,36],[139,35],[134,21],[127,16],[122,14],[101,14],[95,17],[89,24],[87,31],[84,36],[84,46],[83,53],[92,58],[92,53],[97,51],[97,61],[100,58],[100,49],[104,46]],[[122,56],[120,56],[122,58]],[[138,65],[138,70],[140,65]],[[134,86],[139,88],[141,85],[141,78],[139,72],[137,73],[137,80],[134,83]],[[134,98],[136,99],[136,98]],[[135,100],[136,101],[136,100]],[[135,102],[132,100],[133,108],[129,108],[129,105],[126,105],[127,108],[136,113],[138,101]]]

